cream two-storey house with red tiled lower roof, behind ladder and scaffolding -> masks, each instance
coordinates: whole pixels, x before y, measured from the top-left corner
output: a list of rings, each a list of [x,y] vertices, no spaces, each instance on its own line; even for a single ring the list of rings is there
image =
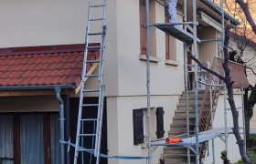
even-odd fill
[[[161,1],[164,3],[164,1]],[[84,51],[84,36],[86,29],[86,15],[88,2],[81,0],[22,0],[2,1],[0,16],[4,26],[0,29],[0,158],[4,163],[39,163],[59,164],[63,144],[59,144],[59,108],[64,105],[65,129],[64,140],[75,143],[76,127],[79,107],[79,93],[81,85],[82,56]],[[95,4],[100,4],[97,0]],[[187,20],[192,20],[192,4],[187,3]],[[183,2],[178,1],[179,21],[182,22]],[[217,5],[208,0],[197,0],[198,10],[198,38],[216,39],[221,36],[220,10]],[[105,52],[105,103],[103,129],[101,139],[101,153],[109,156],[141,156],[147,157],[146,149],[146,62],[145,62],[145,4],[144,0],[109,0],[107,2],[107,42]],[[92,12],[95,17],[101,12]],[[7,15],[7,16],[6,16]],[[150,1],[150,21],[152,23],[165,22],[165,7],[155,0]],[[231,19],[234,26],[239,22]],[[181,26],[182,27],[182,26]],[[91,29],[98,32],[101,25],[91,25]],[[189,29],[188,32],[189,33]],[[90,44],[97,46],[93,39]],[[198,44],[199,60],[210,64],[219,73],[221,59],[219,46],[215,42]],[[152,138],[172,137],[184,134],[186,127],[186,105],[184,99],[184,45],[175,37],[166,36],[156,30],[150,40],[151,51],[151,114]],[[89,60],[99,57],[99,49],[89,52]],[[193,64],[188,58],[188,63]],[[240,88],[248,81],[242,66],[231,63],[232,75],[236,80],[235,88]],[[98,72],[98,64],[88,64],[87,73]],[[210,66],[209,66],[210,67]],[[195,125],[195,107],[193,100],[193,70],[189,69],[189,113],[191,131]],[[236,76],[240,75],[240,77]],[[216,80],[209,78],[201,71],[200,80]],[[218,81],[218,80],[217,80]],[[217,82],[215,81],[215,82]],[[88,78],[85,88],[97,88],[98,80]],[[199,101],[206,104],[208,92],[206,87],[200,86]],[[217,89],[217,87],[215,88]],[[61,91],[61,93],[60,93]],[[217,92],[216,92],[217,93]],[[222,92],[216,94],[216,114],[214,127],[224,126],[224,100]],[[61,94],[61,97],[59,95]],[[85,103],[95,103],[98,95],[84,94]],[[235,92],[237,106],[241,106],[240,92]],[[204,116],[202,106],[200,115]],[[84,117],[95,115],[95,108],[83,112]],[[163,114],[163,110],[165,114]],[[162,113],[164,124],[157,131],[159,123],[156,121],[157,111]],[[139,113],[140,118],[136,119]],[[142,117],[143,116],[143,117]],[[241,115],[240,115],[241,116]],[[203,123],[201,130],[210,128],[209,119]],[[209,118],[209,117],[208,117]],[[229,113],[229,126],[232,120]],[[240,118],[240,124],[242,119]],[[139,128],[133,128],[133,125]],[[82,128],[86,132],[93,130],[93,124]],[[210,143],[210,142],[209,142]],[[216,162],[219,163],[219,153],[224,149],[221,139],[216,142]],[[239,149],[233,135],[229,135],[229,153],[232,162],[240,159]],[[209,144],[210,145],[210,144]],[[91,141],[85,140],[85,148],[91,148]],[[210,146],[209,146],[210,148]],[[72,163],[74,149],[67,152],[66,162]],[[155,150],[152,163],[158,163],[161,154],[166,161],[181,163],[187,161],[186,148],[163,148]],[[81,154],[79,162],[81,162]],[[204,163],[211,163],[211,156],[206,156],[206,149],[202,150],[201,159]],[[191,156],[193,161],[195,156]],[[91,154],[84,153],[87,162]],[[133,160],[134,164],[144,160]],[[102,164],[128,164],[131,160],[101,159]]]

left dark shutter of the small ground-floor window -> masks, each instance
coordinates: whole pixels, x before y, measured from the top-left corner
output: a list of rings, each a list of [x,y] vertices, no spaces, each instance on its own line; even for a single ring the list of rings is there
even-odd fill
[[[133,144],[144,143],[144,109],[133,109]]]

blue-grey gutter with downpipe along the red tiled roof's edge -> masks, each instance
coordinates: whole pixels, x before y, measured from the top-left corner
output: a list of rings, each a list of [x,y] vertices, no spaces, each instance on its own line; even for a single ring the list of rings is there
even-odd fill
[[[73,85],[45,85],[45,86],[10,86],[0,87],[0,90],[51,90],[53,89],[56,93],[56,98],[59,102],[59,139],[64,141],[64,103],[60,97],[62,89],[74,89]],[[60,143],[59,143],[60,144]],[[64,144],[60,144],[60,163],[65,164],[65,147]]]

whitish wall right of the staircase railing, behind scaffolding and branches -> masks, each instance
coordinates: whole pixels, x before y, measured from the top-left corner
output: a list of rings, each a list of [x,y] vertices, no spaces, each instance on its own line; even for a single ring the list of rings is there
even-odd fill
[[[237,93],[236,95],[234,95],[235,98],[235,103],[237,107],[241,107],[241,97],[240,94]],[[229,102],[227,101],[227,108],[229,108]],[[240,127],[242,127],[242,113],[241,110],[239,110],[240,112],[240,116],[239,116],[239,120],[240,120]],[[231,111],[229,110],[227,113],[227,120],[228,120],[228,127],[232,128],[233,127],[233,119],[232,119],[232,115],[231,115]],[[214,128],[224,128],[225,124],[224,124],[224,97],[223,95],[221,95],[219,97],[219,103],[218,103],[218,107],[217,107],[217,111],[215,114],[215,119],[213,122],[213,127]],[[242,130],[240,131],[242,132]],[[240,134],[241,137],[243,138],[243,134]],[[220,159],[220,153],[221,151],[223,151],[225,149],[225,144],[223,143],[222,140],[220,140],[220,138],[216,138],[214,139],[215,142],[215,163],[223,163],[223,160]],[[233,134],[229,134],[229,138],[228,138],[228,157],[231,163],[235,163],[238,160],[240,160],[240,151],[239,151],[239,147],[236,144],[236,138],[234,137]],[[212,163],[212,142],[209,141],[209,156],[206,157],[204,163],[205,164],[211,164]]]

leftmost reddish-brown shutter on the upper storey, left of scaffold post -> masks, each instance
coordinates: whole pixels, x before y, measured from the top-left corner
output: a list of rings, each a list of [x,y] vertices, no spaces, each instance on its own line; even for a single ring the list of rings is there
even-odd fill
[[[145,0],[140,0],[140,32],[141,32],[141,54],[146,54],[146,8]]]

